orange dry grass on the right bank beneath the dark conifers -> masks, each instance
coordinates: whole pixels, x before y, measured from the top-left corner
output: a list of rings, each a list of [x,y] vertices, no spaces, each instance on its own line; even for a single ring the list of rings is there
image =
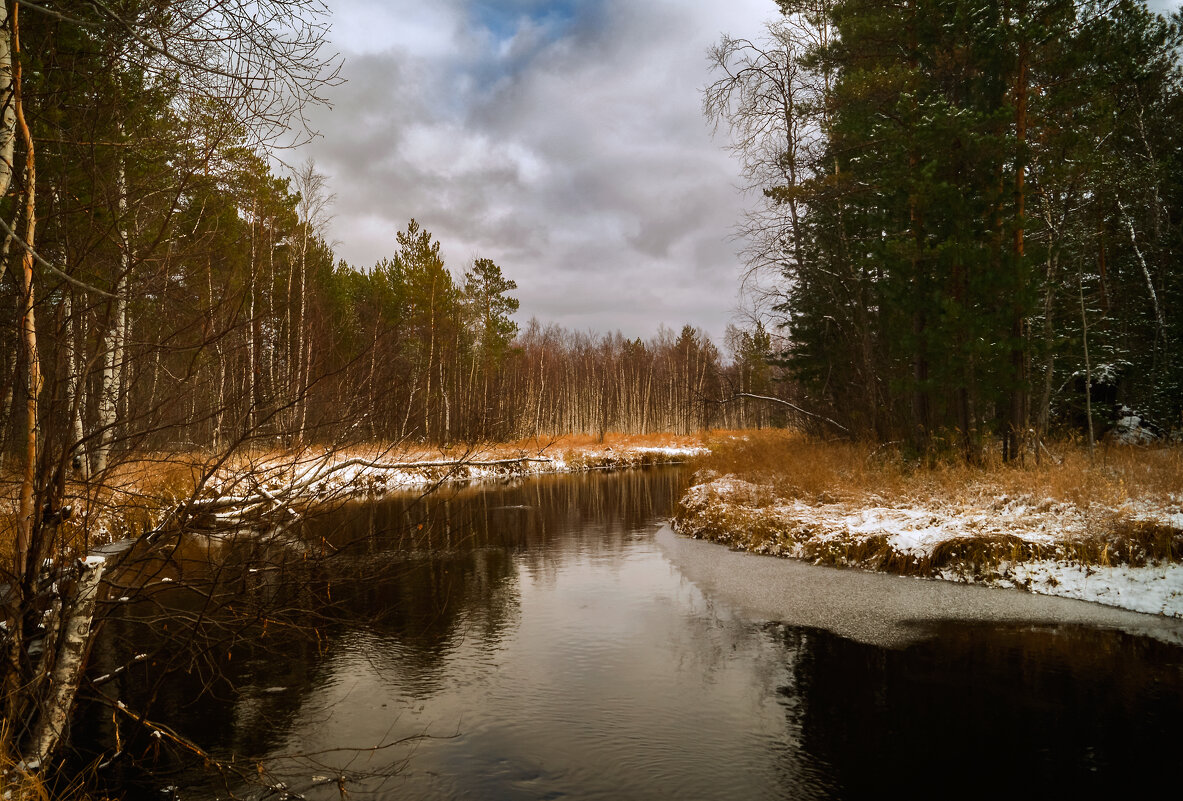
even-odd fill
[[[1139,511],[1183,505],[1179,446],[1108,446],[1090,460],[1085,448],[1059,444],[1040,463],[970,466],[958,460],[919,465],[890,447],[784,431],[725,432],[707,444],[711,454],[697,461],[698,480],[738,480],[687,493],[678,525],[757,553],[978,579],[995,577],[1004,563],[1039,560],[1106,567],[1183,562],[1183,530],[1139,517]],[[932,510],[938,517],[993,524],[957,529],[926,551],[901,551],[888,530],[843,528],[841,521],[851,519],[843,513],[874,508]],[[1008,530],[1011,525],[1034,525],[1040,536],[1020,536],[1033,531]]]

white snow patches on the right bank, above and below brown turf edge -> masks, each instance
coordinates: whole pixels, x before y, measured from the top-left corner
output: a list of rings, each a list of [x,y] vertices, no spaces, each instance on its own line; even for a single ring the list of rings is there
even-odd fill
[[[1054,554],[1058,545],[1072,538],[1104,531],[1119,519],[1183,530],[1183,508],[1177,496],[1166,503],[1130,502],[1121,509],[1004,495],[957,504],[859,506],[780,499],[770,489],[733,474],[703,471],[696,480],[700,483],[686,491],[675,521],[683,534],[799,558],[814,558],[809,555],[817,553],[854,553],[860,545],[874,545],[872,551],[883,553],[875,541],[880,537],[887,548],[906,557],[904,562],[909,564],[922,563],[942,544],[958,541],[994,544],[1006,548],[1006,553],[1010,553],[1014,543],[1024,543],[1035,547],[1024,549],[1028,555],[1034,551],[1039,556]],[[819,547],[823,550],[819,551]],[[1021,587],[1046,595],[1183,618],[1183,564],[1177,563],[1086,566],[1032,558],[1001,561],[996,568],[987,569],[953,564],[936,575],[949,581]]]

